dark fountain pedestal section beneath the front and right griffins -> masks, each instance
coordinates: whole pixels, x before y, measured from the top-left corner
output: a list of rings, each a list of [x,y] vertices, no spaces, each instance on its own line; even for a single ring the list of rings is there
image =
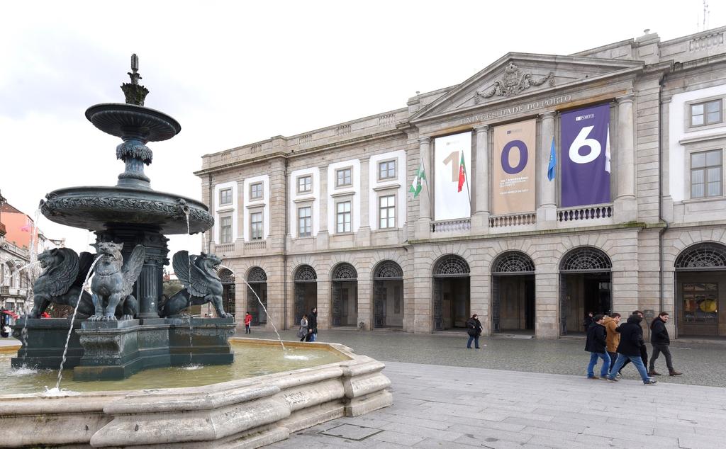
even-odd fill
[[[118,380],[147,368],[229,364],[234,353],[227,340],[234,327],[234,318],[84,321],[77,331],[84,352],[73,379]]]

